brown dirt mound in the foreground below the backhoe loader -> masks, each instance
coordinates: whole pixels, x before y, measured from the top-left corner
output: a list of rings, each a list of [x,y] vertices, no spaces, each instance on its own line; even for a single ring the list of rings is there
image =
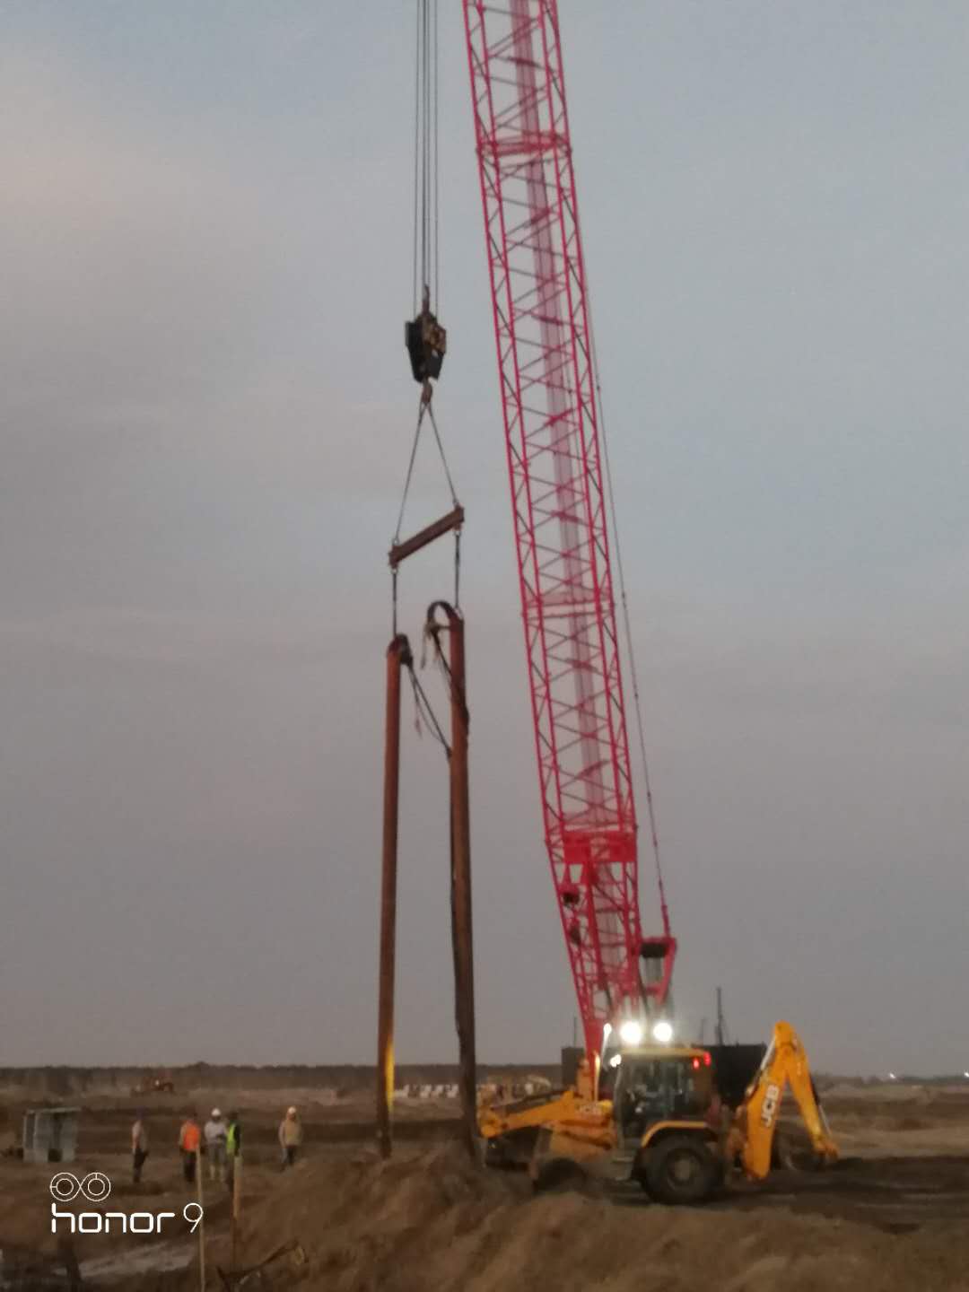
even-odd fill
[[[457,1146],[406,1162],[301,1164],[252,1199],[240,1264],[262,1287],[306,1292],[908,1292],[966,1289],[969,1238],[888,1235],[823,1216],[668,1209],[579,1194],[532,1198],[519,1176],[474,1169]],[[225,1267],[225,1243],[211,1260]],[[932,1278],[928,1278],[928,1275]],[[185,1284],[190,1286],[189,1283]]]

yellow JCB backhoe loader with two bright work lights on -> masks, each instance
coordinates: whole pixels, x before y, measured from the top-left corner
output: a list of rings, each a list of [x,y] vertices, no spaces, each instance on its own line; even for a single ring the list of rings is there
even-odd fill
[[[609,1098],[580,1089],[554,1099],[483,1109],[479,1128],[488,1156],[513,1158],[530,1145],[536,1187],[578,1171],[607,1181],[638,1181],[663,1203],[711,1198],[733,1169],[751,1180],[770,1171],[778,1114],[789,1089],[822,1163],[837,1146],[820,1109],[808,1056],[780,1022],[740,1106],[730,1114],[717,1096],[711,1056],[695,1047],[640,1045],[616,1052],[607,1067]],[[605,1084],[605,1083],[603,1083]]]

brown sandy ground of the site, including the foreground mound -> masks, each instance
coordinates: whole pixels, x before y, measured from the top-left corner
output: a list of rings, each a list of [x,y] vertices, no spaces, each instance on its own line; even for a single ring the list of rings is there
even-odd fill
[[[0,1102],[0,1136],[25,1102],[22,1092]],[[140,1186],[124,1151],[137,1102],[149,1110],[152,1149]],[[306,1152],[283,1173],[275,1128],[289,1102],[304,1114]],[[235,1269],[258,1269],[224,1282],[220,1270],[233,1264],[229,1199],[205,1178],[208,1288],[969,1292],[969,1090],[911,1087],[828,1096],[842,1154],[836,1168],[775,1172],[764,1185],[734,1183],[705,1207],[680,1209],[650,1204],[636,1186],[534,1198],[521,1174],[482,1173],[464,1160],[446,1102],[403,1103],[394,1159],[380,1163],[364,1097],[205,1090],[90,1098],[70,1169],[79,1177],[103,1172],[112,1193],[107,1204],[84,1208],[168,1211],[176,1220],[165,1221],[162,1236],[76,1235],[85,1289],[199,1287],[198,1235],[182,1218],[195,1195],[174,1145],[186,1107],[207,1114],[216,1103],[243,1115]],[[48,1183],[57,1169],[0,1158],[3,1292],[70,1286],[65,1251],[50,1234]]]

